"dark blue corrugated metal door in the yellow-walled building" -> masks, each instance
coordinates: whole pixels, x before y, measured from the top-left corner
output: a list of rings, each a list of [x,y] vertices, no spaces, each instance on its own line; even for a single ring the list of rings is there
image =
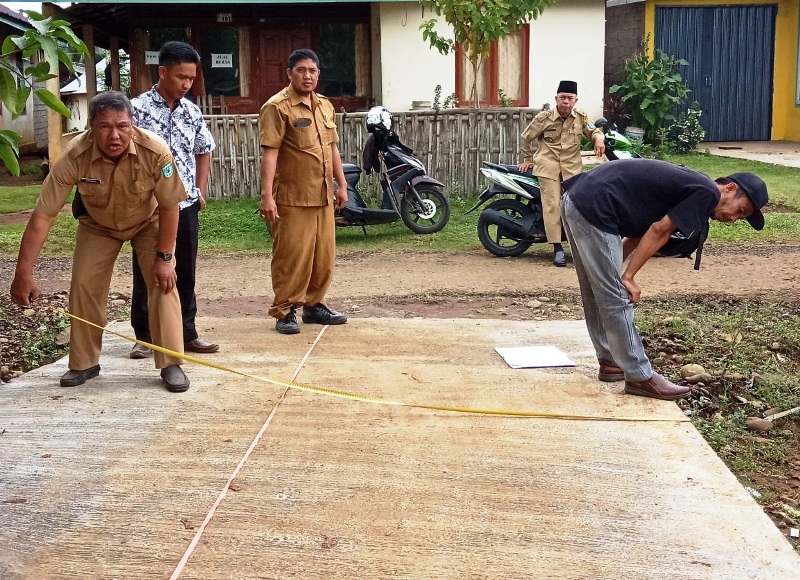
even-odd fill
[[[689,62],[707,141],[767,141],[772,127],[775,5],[658,7],[655,46]]]

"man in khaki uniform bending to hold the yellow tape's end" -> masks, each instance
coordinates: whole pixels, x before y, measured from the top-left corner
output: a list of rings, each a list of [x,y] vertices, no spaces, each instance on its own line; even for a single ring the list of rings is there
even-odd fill
[[[69,309],[105,326],[114,262],[130,240],[145,273],[150,329],[155,344],[183,353],[181,306],[175,290],[178,204],[186,188],[176,174],[169,146],[156,134],[133,126],[133,109],[122,93],[100,93],[89,103],[90,129],[73,139],[42,185],[20,243],[11,299],[26,306],[39,295],[33,266],[50,228],[74,186],[81,192],[72,262]],[[74,322],[69,370],[62,387],[82,385],[100,373],[103,331]],[[182,392],[189,379],[183,359],[157,352],[167,390]]]

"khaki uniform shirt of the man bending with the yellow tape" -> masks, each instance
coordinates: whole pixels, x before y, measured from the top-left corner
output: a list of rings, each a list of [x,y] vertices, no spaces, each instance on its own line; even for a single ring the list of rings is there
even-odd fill
[[[44,180],[37,211],[57,216],[76,185],[88,212],[81,220],[118,239],[130,239],[156,219],[158,205],[172,207],[186,199],[169,146],[138,127],[116,162],[100,152],[91,130],[75,137]]]

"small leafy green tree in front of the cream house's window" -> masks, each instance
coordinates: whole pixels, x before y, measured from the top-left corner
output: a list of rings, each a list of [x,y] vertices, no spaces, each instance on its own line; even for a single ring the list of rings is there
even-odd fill
[[[489,56],[492,42],[519,30],[539,17],[556,0],[420,0],[437,16],[443,16],[453,29],[454,38],[445,38],[434,30],[436,19],[420,25],[422,38],[441,54],[449,54],[461,46],[472,66],[472,88],[469,100],[478,106],[478,72]]]

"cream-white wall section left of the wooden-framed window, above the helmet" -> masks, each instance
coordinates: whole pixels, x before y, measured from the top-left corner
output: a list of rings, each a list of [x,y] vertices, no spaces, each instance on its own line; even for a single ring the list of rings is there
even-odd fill
[[[380,94],[390,111],[408,111],[412,101],[433,102],[436,85],[442,97],[456,90],[455,55],[443,56],[422,40],[419,25],[434,15],[416,2],[382,2],[380,6]],[[423,16],[424,13],[424,16]],[[447,28],[439,34],[452,37]]]

